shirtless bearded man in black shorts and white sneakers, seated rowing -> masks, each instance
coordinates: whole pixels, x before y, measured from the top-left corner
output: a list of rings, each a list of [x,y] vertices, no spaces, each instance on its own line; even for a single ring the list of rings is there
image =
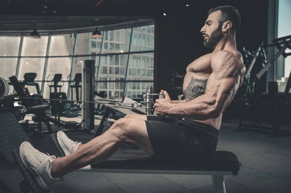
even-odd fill
[[[232,6],[210,9],[201,29],[204,46],[213,52],[196,59],[186,69],[183,83],[185,100],[165,98],[155,103],[156,114],[184,118],[177,124],[147,120],[143,115],[118,119],[104,134],[86,144],[70,140],[58,132],[65,157],[48,156],[28,142],[20,146],[20,157],[43,189],[49,189],[65,174],[110,157],[128,142],[155,156],[195,157],[214,151],[218,142],[222,113],[242,85],[245,66],[236,49],[240,15]]]

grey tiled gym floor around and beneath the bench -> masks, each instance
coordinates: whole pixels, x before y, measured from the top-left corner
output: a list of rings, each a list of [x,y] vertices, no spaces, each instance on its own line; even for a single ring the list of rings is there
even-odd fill
[[[77,120],[76,120],[77,121]],[[52,125],[53,126],[53,125]],[[238,176],[226,176],[227,193],[290,193],[291,192],[291,136],[270,138],[268,134],[236,132],[237,119],[224,120],[217,150],[234,152],[241,160]],[[288,125],[280,125],[288,129]],[[74,141],[88,142],[93,134],[69,133]],[[49,138],[32,137],[34,145],[43,152],[56,155]],[[2,179],[15,193],[20,193],[23,177],[17,169],[0,169]],[[210,176],[151,175],[73,172],[58,183],[55,193],[211,193]],[[2,191],[0,190],[0,193]]]

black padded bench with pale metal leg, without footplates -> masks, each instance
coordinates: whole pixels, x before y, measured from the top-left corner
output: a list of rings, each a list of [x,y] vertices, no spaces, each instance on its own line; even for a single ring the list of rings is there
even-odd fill
[[[129,151],[124,150],[125,153]],[[197,155],[194,160],[146,159],[142,150],[130,150],[137,154],[137,159],[111,160],[84,167],[80,171],[103,173],[138,173],[138,174],[192,174],[211,175],[216,193],[226,193],[224,175],[236,176],[241,163],[238,157],[228,151],[214,151],[209,154]],[[136,151],[136,152],[132,152]],[[125,158],[126,158],[125,154]],[[199,156],[199,157],[198,157]],[[142,157],[142,158],[139,158]]]

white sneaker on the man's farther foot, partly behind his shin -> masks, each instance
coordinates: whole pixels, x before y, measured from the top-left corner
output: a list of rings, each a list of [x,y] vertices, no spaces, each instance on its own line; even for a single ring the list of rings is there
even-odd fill
[[[70,155],[71,153],[78,150],[78,147],[82,144],[81,142],[73,141],[66,136],[62,131],[57,133],[58,142],[63,149],[65,156]]]

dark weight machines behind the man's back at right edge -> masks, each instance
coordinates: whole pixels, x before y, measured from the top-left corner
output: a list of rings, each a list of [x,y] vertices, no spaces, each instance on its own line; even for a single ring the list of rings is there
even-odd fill
[[[287,81],[287,86],[284,93],[278,92],[278,85],[277,82],[268,82],[268,93],[263,94],[260,90],[262,88],[262,85],[258,86],[258,83],[261,83],[262,81],[260,78],[263,74],[267,72],[267,70],[275,64],[275,60],[279,58],[279,56],[283,56],[284,58],[291,55],[291,53],[286,53],[285,50],[287,48],[291,49],[291,35],[285,36],[282,38],[277,38],[273,40],[273,44],[267,45],[269,46],[276,46],[278,48],[277,53],[269,59],[267,62],[264,63],[263,68],[255,75],[253,87],[247,87],[246,93],[250,93],[252,96],[252,101],[243,100],[242,106],[241,106],[241,115],[240,115],[240,122],[238,131],[242,130],[250,130],[250,131],[260,131],[260,132],[267,132],[270,133],[272,137],[276,137],[279,135],[287,135],[291,134],[291,131],[279,129],[279,118],[283,110],[288,110],[291,105],[291,97],[289,95],[289,90],[291,88],[291,73]],[[257,52],[254,54],[254,58],[252,59],[252,62],[249,65],[249,68],[247,69],[245,73],[245,78],[249,79],[251,70],[254,66],[254,61],[259,56],[259,54],[262,54],[261,52],[262,48],[259,46]],[[257,84],[257,85],[256,85]],[[256,86],[255,86],[256,85]],[[244,122],[244,115],[247,108],[255,108],[257,111],[256,115],[256,123],[255,124],[249,124]],[[264,112],[270,111],[271,114],[271,121],[272,126],[262,126],[262,120],[264,116]]]

